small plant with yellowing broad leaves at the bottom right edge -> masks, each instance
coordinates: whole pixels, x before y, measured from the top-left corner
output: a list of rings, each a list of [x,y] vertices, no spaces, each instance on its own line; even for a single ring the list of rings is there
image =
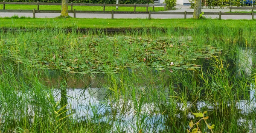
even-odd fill
[[[194,123],[192,120],[189,122],[189,129],[187,129],[188,133],[202,133],[202,131],[199,128],[199,123],[204,120],[205,124],[207,125],[208,129],[211,130],[211,132],[213,133],[212,129],[214,128],[214,124],[213,125],[209,125],[206,120],[209,118],[209,116],[204,116],[204,114],[206,114],[207,111],[204,111],[204,113],[193,113],[196,117],[201,117],[201,119]],[[196,125],[196,128],[193,128],[194,125]],[[193,129],[192,129],[193,128]],[[192,132],[191,132],[192,131]]]

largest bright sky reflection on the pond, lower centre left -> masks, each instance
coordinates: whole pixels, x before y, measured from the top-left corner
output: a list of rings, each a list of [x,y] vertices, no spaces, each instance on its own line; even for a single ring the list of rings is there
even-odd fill
[[[124,131],[134,133],[133,127],[136,127],[137,113],[134,109],[133,101],[120,100],[118,103],[111,100],[101,100],[99,97],[105,97],[105,93],[95,95],[91,94],[90,89],[67,89],[67,103],[68,107],[72,109],[73,119],[79,121],[86,121],[88,119],[97,122],[109,122],[113,124],[113,131],[117,129],[116,126],[123,127]],[[96,89],[94,89],[96,90]],[[99,89],[99,91],[106,91],[106,89]],[[94,92],[93,92],[94,93]],[[54,90],[55,100],[59,101],[61,95],[58,89]],[[125,109],[124,109],[125,108]],[[158,131],[164,129],[164,116],[160,113],[155,113],[155,105],[152,103],[145,103],[139,112],[144,119],[142,125],[148,126],[148,131]],[[124,112],[125,113],[121,113]],[[113,119],[115,121],[113,122]],[[112,123],[113,122],[113,123]],[[156,125],[157,124],[157,125]]]

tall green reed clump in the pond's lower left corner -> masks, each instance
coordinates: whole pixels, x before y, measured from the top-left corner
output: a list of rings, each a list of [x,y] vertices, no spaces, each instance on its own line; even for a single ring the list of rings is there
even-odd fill
[[[67,72],[56,72],[61,99],[47,87],[48,71],[1,61],[0,107],[3,132],[105,132],[110,125],[93,121],[74,122],[67,103]],[[49,76],[49,77],[48,77]]]

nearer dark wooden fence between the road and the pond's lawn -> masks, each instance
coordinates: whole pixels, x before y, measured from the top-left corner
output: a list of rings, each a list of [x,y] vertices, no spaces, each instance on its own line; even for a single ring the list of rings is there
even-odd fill
[[[61,10],[0,10],[0,12],[14,12],[14,13],[33,13],[33,18],[35,18],[36,13],[61,13]],[[193,15],[193,12],[155,12],[155,11],[68,11],[69,13],[73,13],[73,17],[76,17],[76,14],[111,14],[111,18],[114,19],[114,14],[148,14],[148,19],[151,19],[152,14],[165,14],[165,15],[184,15],[184,19],[186,19],[187,15]],[[221,19],[221,15],[247,15],[252,16],[256,13],[222,13],[220,12],[204,12],[204,15],[219,15],[219,19]]]

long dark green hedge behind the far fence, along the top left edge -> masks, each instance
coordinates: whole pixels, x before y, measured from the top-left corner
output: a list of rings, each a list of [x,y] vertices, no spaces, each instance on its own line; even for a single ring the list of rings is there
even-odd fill
[[[3,1],[3,0],[0,0]],[[61,0],[5,0],[6,2],[44,2],[44,3],[61,3]],[[116,0],[69,0],[73,3],[106,3],[116,4]],[[152,4],[154,0],[119,0],[119,4]]]

